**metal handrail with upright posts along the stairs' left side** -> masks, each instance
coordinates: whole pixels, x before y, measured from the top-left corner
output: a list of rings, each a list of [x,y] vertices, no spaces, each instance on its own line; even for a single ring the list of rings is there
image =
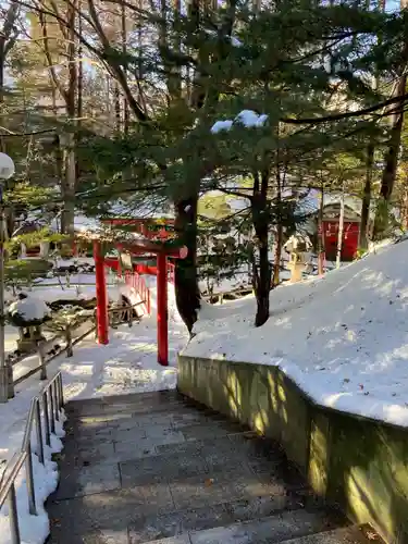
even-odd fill
[[[63,405],[64,396],[62,388],[62,375],[61,372],[58,372],[41,390],[39,395],[32,399],[21,450],[14,463],[10,468],[5,468],[4,473],[7,474],[8,470],[9,473],[5,475],[0,487],[0,508],[2,508],[5,500],[8,500],[9,504],[9,521],[12,544],[21,544],[17,503],[15,496],[15,479],[17,478],[23,465],[25,465],[26,471],[28,511],[32,516],[37,516],[38,514],[33,471],[32,434],[34,422],[36,425],[38,448],[37,452],[35,452],[35,455],[38,456],[39,462],[45,465],[46,459],[44,455],[42,421],[44,429],[46,431],[45,443],[47,446],[51,446],[51,433],[55,434],[55,421],[60,420]]]

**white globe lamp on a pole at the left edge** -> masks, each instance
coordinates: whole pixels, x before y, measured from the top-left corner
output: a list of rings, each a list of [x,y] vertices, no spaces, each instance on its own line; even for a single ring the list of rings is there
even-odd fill
[[[4,207],[2,181],[14,175],[13,160],[5,153],[0,153],[0,403],[7,403],[14,396],[13,378],[9,376],[12,368],[5,362],[4,353]]]

